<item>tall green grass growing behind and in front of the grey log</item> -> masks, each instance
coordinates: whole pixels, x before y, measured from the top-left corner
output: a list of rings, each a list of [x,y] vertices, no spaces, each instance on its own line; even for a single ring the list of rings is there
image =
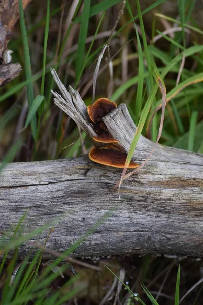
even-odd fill
[[[127,1],[117,30],[111,37],[110,54],[114,71],[114,92],[110,99],[116,101],[117,104],[123,100],[126,101],[138,127],[127,157],[126,170],[141,133],[145,136],[151,134],[151,139],[156,141],[162,106],[162,94],[157,79],[161,79],[167,91],[167,107],[160,142],[203,153],[201,115],[203,46],[199,43],[203,31],[192,17],[194,1],[179,0],[177,2],[179,11],[177,19],[161,13],[161,5],[164,2],[164,0],[158,0],[150,6],[143,7],[141,1]],[[61,115],[52,103],[50,89],[54,83],[50,67],[54,65],[59,70],[60,78],[65,86],[71,84],[79,88],[86,105],[91,104],[92,79],[96,60],[108,41],[106,32],[111,31],[121,5],[119,0],[79,1],[75,11],[72,12],[73,18],[66,27],[70,13],[69,4],[66,4],[64,17],[60,19],[61,7],[57,2],[52,0],[39,2],[39,7],[36,2],[33,2],[24,12],[22,0],[19,0],[20,26],[17,25],[9,48],[14,50],[14,62],[20,62],[23,69],[18,78],[1,88],[0,141],[2,149],[0,153],[3,163],[0,165],[0,170],[4,170],[6,163],[13,160],[19,162],[33,159],[49,160],[52,156],[71,158],[81,153],[81,142],[76,126],[69,118]],[[153,28],[149,27],[146,22],[149,14],[153,16],[151,20]],[[62,20],[61,28],[60,20]],[[168,26],[171,27],[178,24],[181,26],[181,31],[175,33],[174,37],[164,34],[160,20],[167,21]],[[190,36],[186,30],[190,31]],[[160,41],[153,42],[153,38],[157,34],[162,36],[161,43]],[[59,35],[61,39],[57,43]],[[121,50],[122,39],[126,37],[129,38],[128,53],[125,58],[128,74],[127,80],[122,83]],[[35,62],[33,52],[36,50],[40,50],[40,52]],[[181,71],[180,81],[176,84],[183,56],[185,56],[185,65]],[[96,97],[105,96],[108,88],[110,78],[106,60],[108,59],[104,57],[100,65],[99,72],[101,73],[98,74]],[[27,90],[24,90],[25,87]],[[26,99],[27,112],[23,108]],[[20,133],[15,133],[16,128],[20,130]],[[17,141],[11,144],[14,133]],[[83,132],[81,137],[85,137]],[[7,138],[8,142],[5,140]],[[84,145],[88,150],[92,144],[85,139]],[[64,149],[64,147],[66,148]],[[27,154],[25,154],[25,148],[28,151]],[[30,151],[31,154],[29,154]],[[10,236],[10,242],[1,247],[0,252],[3,258],[0,275],[6,277],[3,284],[2,304],[26,304],[33,300],[37,300],[36,304],[60,304],[71,299],[76,293],[70,288],[77,281],[73,277],[55,295],[49,297],[50,285],[59,277],[59,273],[53,273],[52,270],[55,267],[61,267],[62,260],[73,251],[73,248],[67,250],[42,274],[40,266],[43,252],[39,250],[34,256],[28,255],[22,261],[14,282],[10,285],[10,279],[17,264],[19,247],[23,242],[50,226],[52,224],[26,236],[19,234],[18,238],[15,238],[18,228],[13,236]],[[74,247],[77,247],[83,238],[81,237]],[[13,260],[6,265],[11,249],[14,250]],[[28,264],[28,261],[31,263]],[[66,269],[67,266],[62,265],[60,270]],[[143,283],[147,286],[145,279]],[[149,302],[158,304],[153,293],[150,293],[145,286],[142,287],[150,300],[148,303],[146,298],[145,302],[142,300],[143,295],[135,296],[128,285],[122,284],[132,294],[129,298],[131,303],[139,301],[141,304]],[[180,267],[177,274],[174,304],[179,302],[179,284]],[[69,292],[64,295],[63,291]],[[46,299],[45,296],[47,296]]]

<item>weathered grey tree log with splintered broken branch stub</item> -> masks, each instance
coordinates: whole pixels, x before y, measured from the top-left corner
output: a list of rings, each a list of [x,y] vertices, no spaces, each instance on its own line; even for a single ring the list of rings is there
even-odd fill
[[[91,123],[84,123],[85,108],[79,107],[78,93],[69,88],[69,94],[62,94],[63,98],[54,94],[55,103],[72,118],[78,111],[77,123],[92,137],[94,131]],[[104,122],[128,151],[136,127],[126,106],[120,105]],[[133,160],[141,164],[153,145],[141,136]],[[203,155],[158,145],[148,163],[123,182],[119,200],[117,190],[112,190],[121,172],[93,163],[88,156],[8,164],[0,174],[0,229],[13,228],[28,208],[26,233],[60,217],[47,247],[62,252],[110,211],[74,256],[203,257]],[[47,232],[35,241],[43,245]],[[25,243],[21,255],[29,249]],[[46,258],[50,256],[45,253]]]

